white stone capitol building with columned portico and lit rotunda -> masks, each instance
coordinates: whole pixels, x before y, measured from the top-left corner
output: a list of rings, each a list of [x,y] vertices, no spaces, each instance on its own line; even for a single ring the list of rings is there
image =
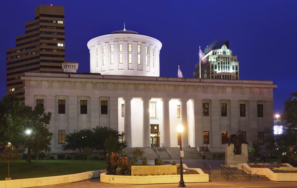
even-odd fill
[[[65,134],[98,125],[124,132],[128,147],[178,147],[179,124],[183,147],[223,152],[238,129],[249,143],[265,144],[272,81],[159,77],[161,47],[124,29],[88,42],[91,73],[75,73],[73,62],[65,62],[64,73],[25,73],[25,104],[52,113],[51,152],[64,152]]]

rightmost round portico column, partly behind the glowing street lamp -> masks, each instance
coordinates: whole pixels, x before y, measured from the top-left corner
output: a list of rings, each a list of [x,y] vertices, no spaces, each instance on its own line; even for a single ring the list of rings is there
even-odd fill
[[[189,146],[189,133],[188,133],[188,109],[187,102],[188,100],[180,100],[181,102],[181,125],[184,127],[182,132],[182,147]]]

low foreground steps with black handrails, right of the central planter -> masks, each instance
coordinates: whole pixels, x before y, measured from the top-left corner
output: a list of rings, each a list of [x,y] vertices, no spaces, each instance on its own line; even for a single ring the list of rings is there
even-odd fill
[[[237,168],[230,168],[230,171],[232,174],[229,175],[229,181],[248,181],[245,176],[242,176],[242,170],[238,170]],[[209,181],[227,180],[223,176],[221,176],[220,170],[212,170],[211,175],[209,175]],[[266,176],[252,174],[252,181],[269,181],[269,179]]]

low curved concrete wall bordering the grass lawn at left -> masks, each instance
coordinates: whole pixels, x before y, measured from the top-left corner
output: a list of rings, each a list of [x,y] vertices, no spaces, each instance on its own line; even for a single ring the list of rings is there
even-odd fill
[[[82,181],[90,178],[100,177],[100,174],[106,170],[97,170],[82,172],[76,174],[68,174],[62,176],[50,176],[42,178],[28,178],[28,179],[15,179],[0,181],[1,188],[26,188],[26,187],[39,187],[57,184],[72,183],[75,181]]]

